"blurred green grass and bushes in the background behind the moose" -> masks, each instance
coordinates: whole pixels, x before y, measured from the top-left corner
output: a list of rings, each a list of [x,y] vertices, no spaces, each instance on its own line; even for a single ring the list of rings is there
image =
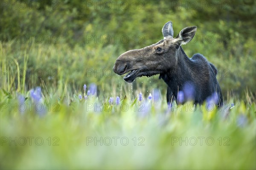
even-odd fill
[[[248,89],[256,95],[253,0],[1,0],[0,17],[1,68],[17,69],[14,59],[23,68],[23,57],[28,55],[27,69],[44,71],[41,79],[35,74],[26,77],[26,89],[42,86],[41,80],[47,86],[68,82],[73,91],[90,82],[103,91],[131,86],[113,73],[115,59],[125,51],[161,40],[162,26],[172,20],[175,36],[184,27],[198,26],[195,38],[183,49],[189,57],[203,54],[218,68],[224,99],[229,91],[244,97]],[[22,36],[27,37],[25,43],[21,43]],[[54,69],[58,69],[58,77],[51,78],[47,71]],[[2,82],[8,81],[5,78]],[[159,88],[165,93],[166,84],[157,76],[150,83],[146,80],[137,78],[134,88]],[[17,81],[12,89],[17,89]]]

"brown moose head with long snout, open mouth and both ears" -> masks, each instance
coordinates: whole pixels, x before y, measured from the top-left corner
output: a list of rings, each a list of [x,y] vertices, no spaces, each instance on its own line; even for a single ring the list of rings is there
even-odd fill
[[[124,80],[133,82],[136,77],[151,77],[164,74],[177,66],[178,49],[180,45],[188,43],[195,35],[197,27],[186,27],[173,38],[172,22],[163,26],[163,40],[145,48],[130,50],[116,59],[113,71],[116,74],[126,74]]]

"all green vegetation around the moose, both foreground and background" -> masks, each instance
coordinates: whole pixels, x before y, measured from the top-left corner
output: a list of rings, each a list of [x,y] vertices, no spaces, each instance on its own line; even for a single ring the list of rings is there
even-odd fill
[[[0,0],[0,168],[256,169],[256,1],[108,2]],[[113,73],[169,20],[198,26],[183,49],[218,68],[220,110],[168,108],[157,76]]]

